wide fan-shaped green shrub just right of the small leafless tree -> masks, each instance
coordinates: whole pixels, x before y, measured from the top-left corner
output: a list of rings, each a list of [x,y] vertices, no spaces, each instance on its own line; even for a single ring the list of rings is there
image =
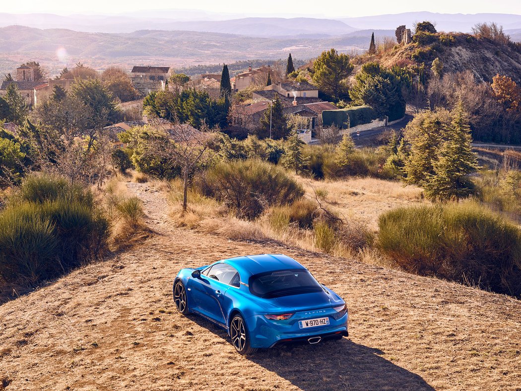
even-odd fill
[[[249,219],[270,205],[290,204],[304,194],[284,169],[258,160],[218,163],[195,178],[194,185]]]

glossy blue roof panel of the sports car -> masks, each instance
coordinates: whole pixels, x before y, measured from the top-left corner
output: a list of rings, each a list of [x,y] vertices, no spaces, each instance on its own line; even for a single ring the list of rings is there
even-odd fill
[[[241,277],[250,277],[257,273],[272,270],[305,268],[293,258],[282,254],[244,255],[225,259],[222,262],[235,267],[241,274]]]

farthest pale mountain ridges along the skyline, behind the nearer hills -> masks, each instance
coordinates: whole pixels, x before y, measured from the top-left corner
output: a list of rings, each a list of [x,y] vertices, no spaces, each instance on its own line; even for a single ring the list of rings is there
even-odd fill
[[[334,36],[355,30],[396,29],[400,25],[413,27],[415,22],[429,20],[438,30],[470,32],[478,22],[495,21],[505,29],[520,29],[521,15],[511,14],[437,14],[410,12],[393,15],[364,16],[358,18],[237,18],[227,15],[226,20],[209,20],[212,15],[202,11],[161,10],[119,15],[55,14],[2,14],[0,27],[21,25],[40,29],[70,29],[85,32],[122,33],[135,30],[203,31],[249,36]],[[214,15],[215,17],[215,15]],[[224,16],[219,16],[220,18]],[[226,17],[226,16],[225,16]]]

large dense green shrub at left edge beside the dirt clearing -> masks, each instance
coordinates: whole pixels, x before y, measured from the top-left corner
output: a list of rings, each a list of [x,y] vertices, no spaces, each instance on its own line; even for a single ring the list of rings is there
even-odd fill
[[[0,279],[57,277],[101,256],[108,236],[89,189],[29,176],[0,213]]]

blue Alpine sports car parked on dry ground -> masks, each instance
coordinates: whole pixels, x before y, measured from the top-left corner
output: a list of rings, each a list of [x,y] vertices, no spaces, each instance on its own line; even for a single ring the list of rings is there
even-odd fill
[[[199,314],[224,327],[241,354],[257,348],[348,336],[348,309],[289,256],[239,256],[182,269],[173,300],[183,315]]]

